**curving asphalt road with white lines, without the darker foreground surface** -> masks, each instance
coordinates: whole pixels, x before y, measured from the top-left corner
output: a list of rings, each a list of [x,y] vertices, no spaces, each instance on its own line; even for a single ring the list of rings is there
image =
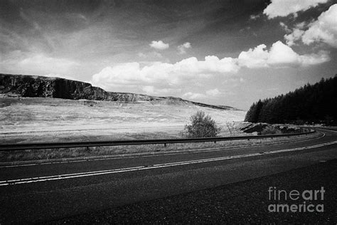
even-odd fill
[[[321,132],[279,145],[0,167],[0,224],[62,219],[336,159],[337,132]]]

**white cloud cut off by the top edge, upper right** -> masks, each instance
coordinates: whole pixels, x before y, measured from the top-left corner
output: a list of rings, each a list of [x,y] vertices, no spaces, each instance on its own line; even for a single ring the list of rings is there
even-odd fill
[[[306,11],[326,2],[328,0],[272,0],[272,3],[264,9],[263,13],[269,19],[277,16],[289,16],[290,14],[297,16],[298,11]]]

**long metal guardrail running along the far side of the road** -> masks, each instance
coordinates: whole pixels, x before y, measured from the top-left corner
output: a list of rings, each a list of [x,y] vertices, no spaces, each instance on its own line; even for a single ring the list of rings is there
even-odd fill
[[[95,147],[95,146],[117,146],[117,145],[157,145],[157,144],[173,144],[173,143],[189,143],[189,142],[223,142],[229,140],[250,140],[264,139],[274,137],[291,137],[299,135],[309,135],[316,132],[291,133],[282,135],[258,135],[258,136],[238,136],[238,137],[201,137],[201,138],[181,138],[181,139],[154,139],[154,140],[113,140],[113,141],[97,141],[97,142],[50,142],[50,143],[18,143],[18,144],[0,144],[0,151],[11,150],[41,150],[53,148],[68,147]]]

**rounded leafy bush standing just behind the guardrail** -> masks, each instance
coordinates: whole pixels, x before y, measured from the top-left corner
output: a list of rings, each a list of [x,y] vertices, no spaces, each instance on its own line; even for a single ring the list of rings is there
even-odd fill
[[[216,137],[220,133],[220,127],[210,115],[198,111],[190,117],[191,125],[185,125],[184,136],[186,137]]]

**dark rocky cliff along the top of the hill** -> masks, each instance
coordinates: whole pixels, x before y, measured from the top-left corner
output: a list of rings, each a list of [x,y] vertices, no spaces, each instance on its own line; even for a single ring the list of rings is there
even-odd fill
[[[102,88],[93,87],[90,83],[38,75],[12,75],[0,73],[0,94],[10,97],[65,98],[73,100],[87,99],[121,102],[170,100],[192,103],[193,105],[200,105],[208,108],[234,109],[229,106],[195,103],[174,97],[155,97],[134,93],[107,92]]]

